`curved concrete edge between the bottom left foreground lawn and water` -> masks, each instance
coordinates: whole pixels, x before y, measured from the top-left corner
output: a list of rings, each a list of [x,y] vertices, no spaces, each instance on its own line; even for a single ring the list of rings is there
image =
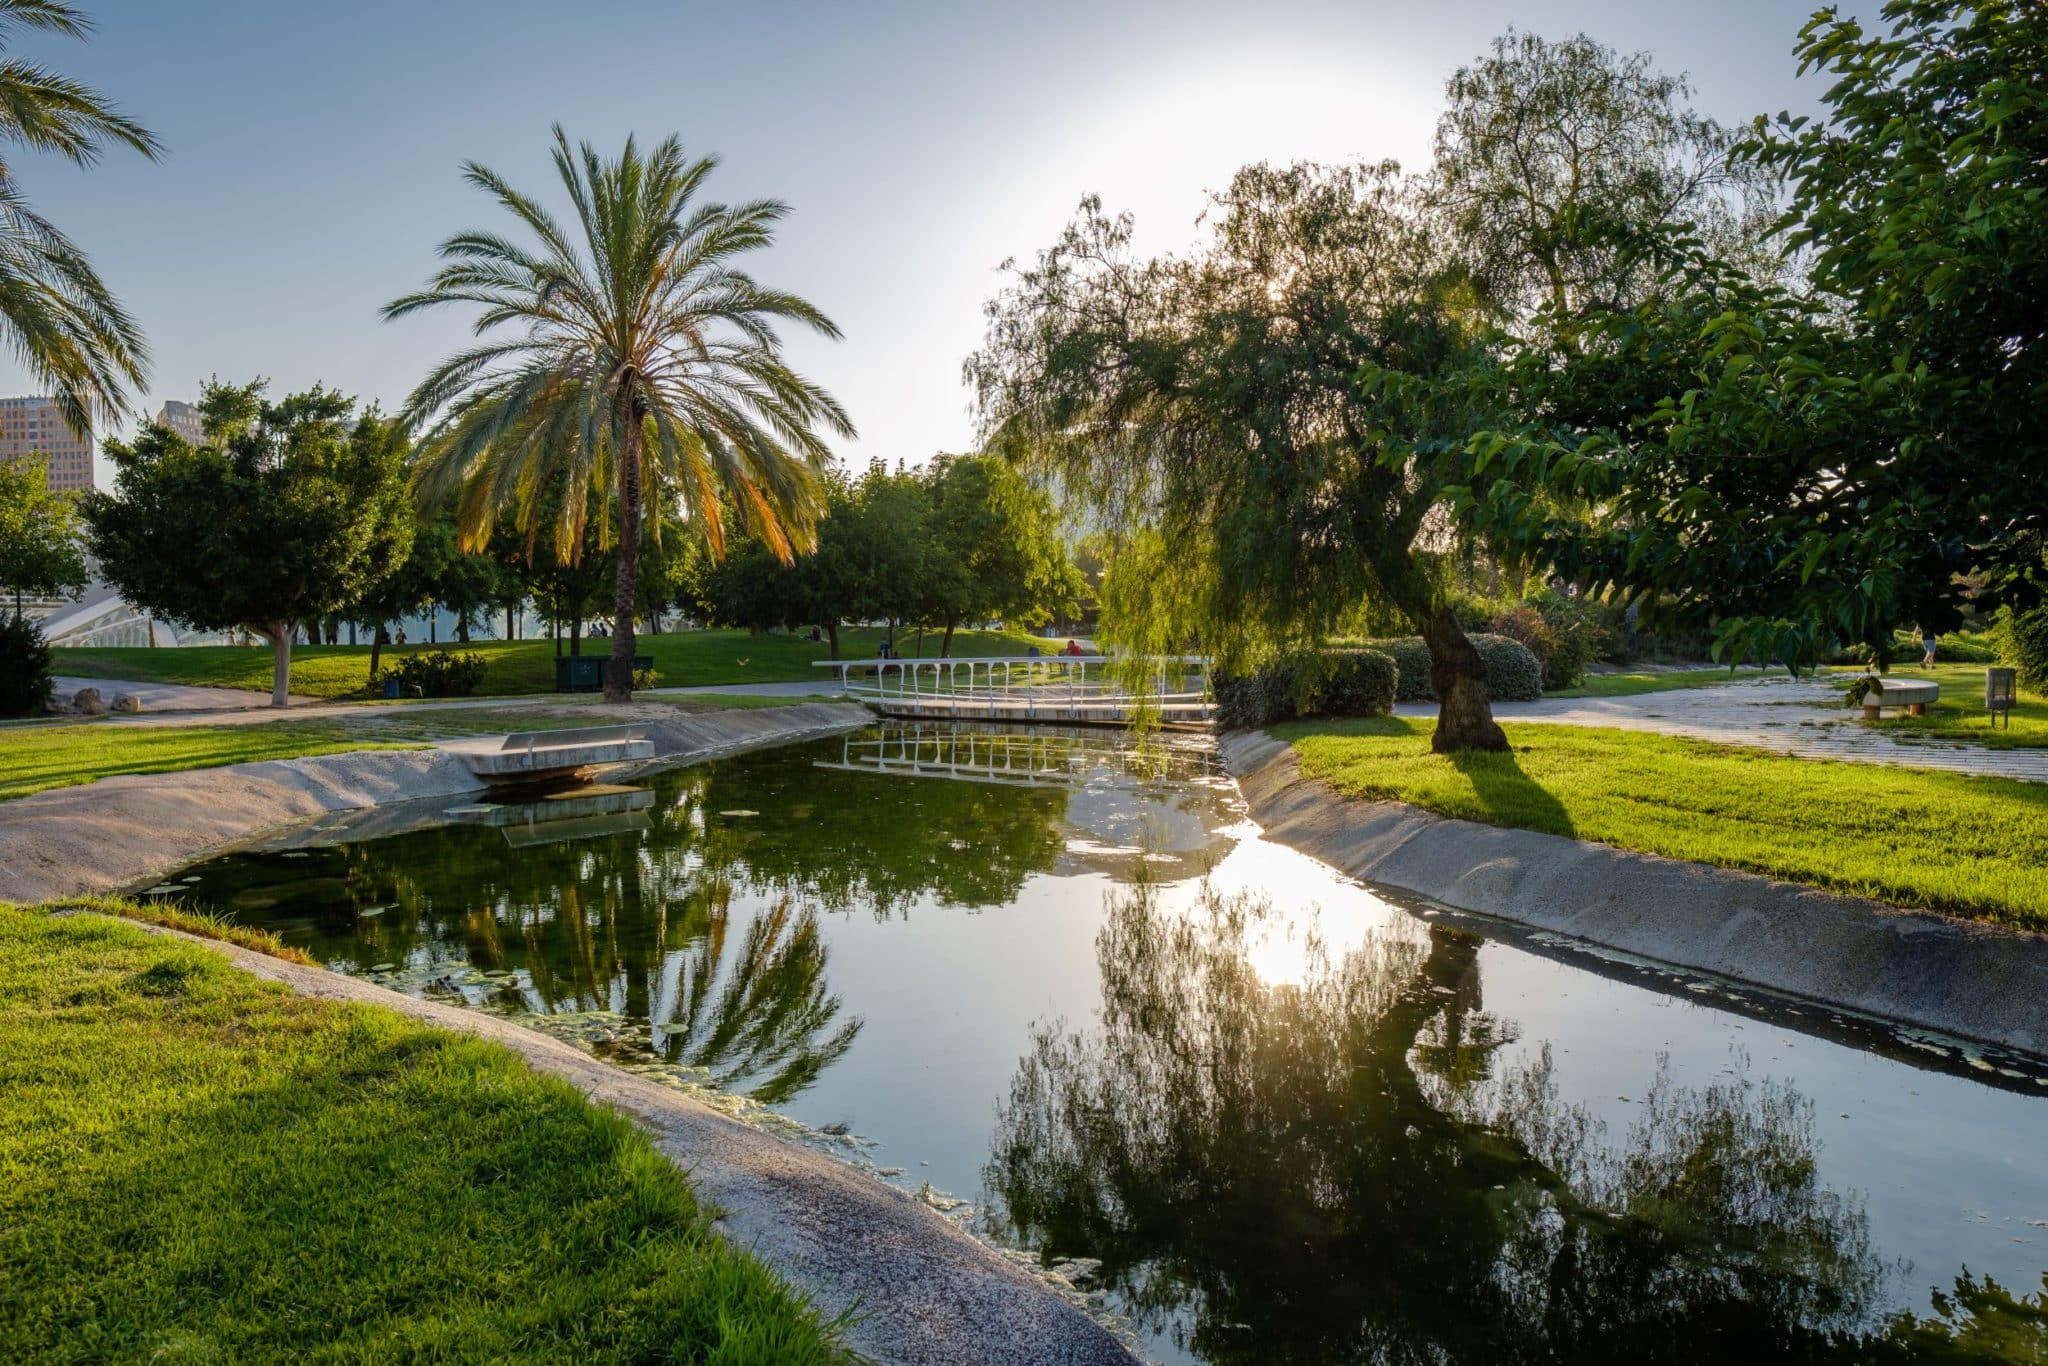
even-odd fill
[[[864,713],[862,713],[864,715]],[[143,926],[158,934],[174,930]],[[477,1034],[631,1118],[688,1171],[721,1229],[827,1315],[854,1311],[846,1341],[877,1362],[1128,1366],[1094,1319],[926,1204],[852,1165],[727,1118],[537,1030],[457,1006],[193,940],[301,995],[360,1001]]]

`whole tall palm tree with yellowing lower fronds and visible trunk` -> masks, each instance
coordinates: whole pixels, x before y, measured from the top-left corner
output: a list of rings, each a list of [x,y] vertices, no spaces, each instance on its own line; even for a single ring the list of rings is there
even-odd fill
[[[479,340],[442,360],[414,389],[406,420],[422,428],[422,500],[455,500],[465,547],[510,510],[522,530],[543,502],[561,508],[557,553],[582,553],[590,498],[608,504],[600,541],[616,547],[618,580],[606,700],[633,696],[633,600],[641,518],[678,500],[715,555],[721,508],[784,561],[815,539],[817,428],[852,436],[829,393],[780,354],[778,322],[823,336],[840,330],[797,295],[766,289],[735,260],[774,240],[788,207],[774,199],[696,203],[715,158],[684,160],[668,137],[647,156],[629,137],[602,160],[569,147],[555,127],[555,170],[582,240],[496,172],[465,164],[539,240],[492,231],[440,244],[442,268],[416,295],[385,305],[401,317],[471,303]],[[508,326],[510,334],[496,334]],[[559,500],[553,498],[559,494]]]

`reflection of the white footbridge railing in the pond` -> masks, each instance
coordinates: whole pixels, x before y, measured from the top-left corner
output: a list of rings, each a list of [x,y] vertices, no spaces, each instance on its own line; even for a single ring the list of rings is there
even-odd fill
[[[819,760],[817,768],[1059,788],[1085,786],[1104,772],[1141,782],[1184,782],[1223,772],[1206,741],[1135,741],[1104,731],[958,727],[946,721],[893,725],[881,735],[850,733],[840,741],[840,760]]]

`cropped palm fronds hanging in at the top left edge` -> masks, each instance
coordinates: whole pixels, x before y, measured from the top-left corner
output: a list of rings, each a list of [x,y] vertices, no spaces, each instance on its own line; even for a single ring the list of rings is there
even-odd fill
[[[98,90],[6,55],[27,31],[84,39],[92,20],[63,0],[0,0],[0,145],[55,152],[92,166],[111,145],[152,162],[164,145]],[[0,150],[0,336],[47,383],[74,432],[127,408],[150,360],[141,330],[55,223],[29,207]]]

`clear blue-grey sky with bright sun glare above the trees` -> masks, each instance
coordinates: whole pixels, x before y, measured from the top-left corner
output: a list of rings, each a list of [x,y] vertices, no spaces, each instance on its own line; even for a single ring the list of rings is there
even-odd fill
[[[680,133],[721,158],[719,199],[788,201],[752,268],[840,324],[788,354],[850,410],[854,463],[973,442],[961,362],[983,303],[1083,195],[1178,250],[1247,162],[1419,170],[1444,80],[1509,25],[1651,51],[1724,121],[1823,88],[1790,55],[1808,0],[80,4],[88,43],[14,51],[100,88],[168,156],[14,164],[141,322],[150,414],[211,375],[399,405],[467,319],[379,305],[449,233],[504,225],[465,160],[559,203],[561,123],[604,152]],[[0,360],[0,393],[31,391]]]

